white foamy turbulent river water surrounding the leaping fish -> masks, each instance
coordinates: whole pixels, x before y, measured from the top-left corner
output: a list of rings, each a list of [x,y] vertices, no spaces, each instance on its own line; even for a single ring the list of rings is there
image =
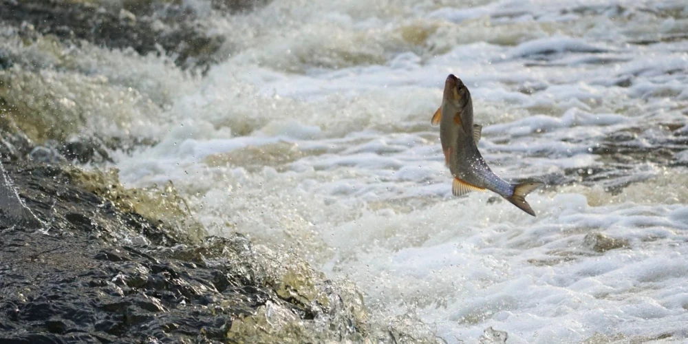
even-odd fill
[[[352,279],[380,316],[449,343],[488,327],[508,343],[688,340],[685,1],[188,5],[226,36],[203,76],[6,45],[57,66],[41,76],[61,114],[154,142],[112,155],[123,182],[172,180],[210,233]],[[450,73],[493,170],[546,182],[528,196],[537,217],[451,195],[430,126]]]

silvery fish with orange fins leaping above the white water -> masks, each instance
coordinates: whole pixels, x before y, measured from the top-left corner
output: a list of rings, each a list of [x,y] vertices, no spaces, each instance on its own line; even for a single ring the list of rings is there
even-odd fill
[[[482,126],[473,124],[471,92],[454,74],[449,74],[444,82],[442,106],[435,112],[431,123],[440,125],[444,162],[454,177],[451,184],[453,195],[460,196],[471,191],[487,189],[535,216],[535,211],[526,202],[526,195],[544,184],[541,182],[510,184],[499,178],[487,166],[482,155],[477,151]]]

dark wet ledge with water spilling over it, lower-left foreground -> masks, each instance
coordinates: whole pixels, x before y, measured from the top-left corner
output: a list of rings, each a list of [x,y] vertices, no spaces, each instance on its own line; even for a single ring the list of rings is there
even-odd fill
[[[5,167],[45,226],[0,226],[0,343],[434,341],[374,325],[350,283],[300,259],[238,233],[204,237],[169,190],[127,191],[69,165]]]

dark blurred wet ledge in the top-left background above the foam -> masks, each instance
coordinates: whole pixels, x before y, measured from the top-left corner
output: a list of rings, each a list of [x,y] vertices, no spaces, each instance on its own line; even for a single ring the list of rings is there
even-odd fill
[[[83,39],[103,47],[133,47],[139,54],[158,53],[162,47],[184,67],[215,62],[213,54],[224,38],[207,34],[193,12],[182,8],[176,12],[183,15],[158,18],[152,15],[155,3],[141,3],[125,2],[131,5],[129,10],[142,14],[137,16],[127,8],[118,7],[116,2],[0,0],[0,21],[18,28],[32,28],[40,34],[54,34],[75,44]],[[165,5],[175,6],[160,1],[160,6]]]

